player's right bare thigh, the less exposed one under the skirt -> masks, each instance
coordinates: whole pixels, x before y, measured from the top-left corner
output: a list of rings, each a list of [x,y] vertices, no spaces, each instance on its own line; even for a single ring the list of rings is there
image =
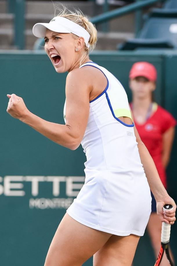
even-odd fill
[[[112,235],[93,256],[93,266],[131,266],[140,237]]]

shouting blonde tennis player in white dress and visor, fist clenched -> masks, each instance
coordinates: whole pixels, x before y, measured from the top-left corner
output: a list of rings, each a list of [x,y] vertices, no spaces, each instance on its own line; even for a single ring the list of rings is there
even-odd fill
[[[35,24],[33,33],[44,37],[57,73],[68,71],[66,122],[41,119],[15,94],[7,95],[7,112],[66,148],[81,143],[87,157],[85,183],[59,224],[44,266],[80,266],[92,255],[94,266],[131,265],[151,213],[149,186],[161,221],[174,223],[176,204],[140,140],[124,88],[89,59],[97,40],[93,24],[64,10],[49,23]],[[165,203],[174,210],[164,213]]]

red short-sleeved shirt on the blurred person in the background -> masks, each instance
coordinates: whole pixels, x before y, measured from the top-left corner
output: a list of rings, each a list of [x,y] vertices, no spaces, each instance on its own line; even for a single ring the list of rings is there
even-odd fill
[[[144,124],[138,124],[134,120],[142,142],[147,147],[156,165],[160,179],[167,187],[165,168],[162,165],[162,136],[166,130],[176,125],[175,118],[165,109],[158,105],[157,110],[147,119]]]

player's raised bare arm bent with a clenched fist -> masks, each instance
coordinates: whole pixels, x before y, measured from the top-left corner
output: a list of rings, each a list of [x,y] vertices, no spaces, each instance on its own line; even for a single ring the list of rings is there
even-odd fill
[[[86,71],[85,71],[86,72]],[[84,69],[71,71],[66,79],[66,125],[51,123],[32,114],[19,96],[8,96],[7,112],[48,139],[75,150],[83,138],[89,116],[88,76]],[[19,99],[19,100],[18,100]]]

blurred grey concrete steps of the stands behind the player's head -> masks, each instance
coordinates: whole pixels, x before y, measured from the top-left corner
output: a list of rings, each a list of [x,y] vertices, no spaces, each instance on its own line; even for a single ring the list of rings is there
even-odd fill
[[[93,1],[62,1],[71,10],[80,8],[89,17],[102,13],[102,7],[96,6]],[[115,6],[117,8],[117,6]],[[114,9],[111,6],[110,9]],[[3,10],[3,12],[1,12]],[[5,13],[7,10],[6,1],[0,1],[0,49],[12,49],[14,15]],[[25,14],[25,49],[32,49],[36,37],[32,34],[32,27],[37,22],[49,22],[54,16],[54,8],[51,1],[27,1]],[[113,19],[108,22],[109,32],[103,33],[103,26],[98,29],[98,50],[115,50],[118,43],[133,37],[134,15],[129,14]]]

